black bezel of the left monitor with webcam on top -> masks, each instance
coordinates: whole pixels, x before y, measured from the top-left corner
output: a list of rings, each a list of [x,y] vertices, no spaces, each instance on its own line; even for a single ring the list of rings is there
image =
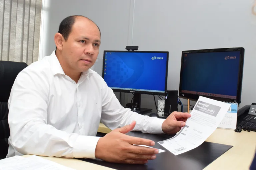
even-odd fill
[[[103,69],[102,69],[102,78],[104,79],[104,68],[105,68],[105,54],[106,52],[134,52],[134,53],[166,53],[166,72],[165,72],[165,90],[167,89],[167,78],[168,78],[168,62],[169,62],[169,51],[122,51],[122,50],[104,50],[103,51]],[[111,88],[112,89],[112,88]],[[131,91],[131,90],[122,90],[122,89],[112,89],[114,92],[124,92],[124,93],[140,93],[140,94],[151,94],[151,95],[165,95],[165,92],[150,92],[150,91]]]

